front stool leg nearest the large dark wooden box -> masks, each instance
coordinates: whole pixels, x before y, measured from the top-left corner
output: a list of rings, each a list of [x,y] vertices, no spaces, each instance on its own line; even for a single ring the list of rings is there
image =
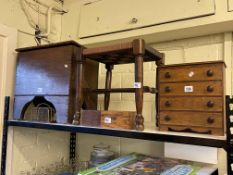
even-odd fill
[[[83,92],[82,92],[82,82],[83,82],[83,64],[78,63],[77,65],[77,80],[76,80],[76,112],[74,114],[73,124],[79,125],[81,119],[81,108],[83,104]]]

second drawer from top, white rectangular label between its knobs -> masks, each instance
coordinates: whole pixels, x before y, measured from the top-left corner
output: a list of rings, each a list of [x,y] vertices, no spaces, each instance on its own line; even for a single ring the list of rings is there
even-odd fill
[[[222,81],[160,83],[160,96],[222,96]]]

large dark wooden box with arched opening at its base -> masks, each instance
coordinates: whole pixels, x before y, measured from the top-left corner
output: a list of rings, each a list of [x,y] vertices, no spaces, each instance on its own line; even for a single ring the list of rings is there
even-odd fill
[[[65,41],[16,50],[14,119],[72,123],[81,107],[97,108],[97,94],[86,90],[98,86],[99,63],[82,49]]]

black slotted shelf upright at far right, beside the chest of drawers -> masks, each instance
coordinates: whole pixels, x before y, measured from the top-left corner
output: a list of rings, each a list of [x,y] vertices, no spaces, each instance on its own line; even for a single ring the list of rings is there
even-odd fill
[[[231,134],[231,127],[233,127],[233,122],[231,122],[231,116],[233,116],[233,109],[230,108],[233,105],[233,98],[226,96],[226,130],[227,130],[227,174],[233,174],[231,164],[233,164],[233,134]]]

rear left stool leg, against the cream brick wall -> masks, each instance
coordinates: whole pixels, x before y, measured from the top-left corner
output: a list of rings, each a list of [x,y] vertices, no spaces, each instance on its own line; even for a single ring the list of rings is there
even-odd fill
[[[105,89],[106,90],[110,90],[111,89],[111,83],[112,83],[112,69],[113,69],[113,65],[106,64],[105,68],[107,69],[107,72],[106,72],[106,81],[105,81]],[[104,110],[108,110],[109,101],[110,101],[110,92],[105,92],[105,94],[104,94]]]

